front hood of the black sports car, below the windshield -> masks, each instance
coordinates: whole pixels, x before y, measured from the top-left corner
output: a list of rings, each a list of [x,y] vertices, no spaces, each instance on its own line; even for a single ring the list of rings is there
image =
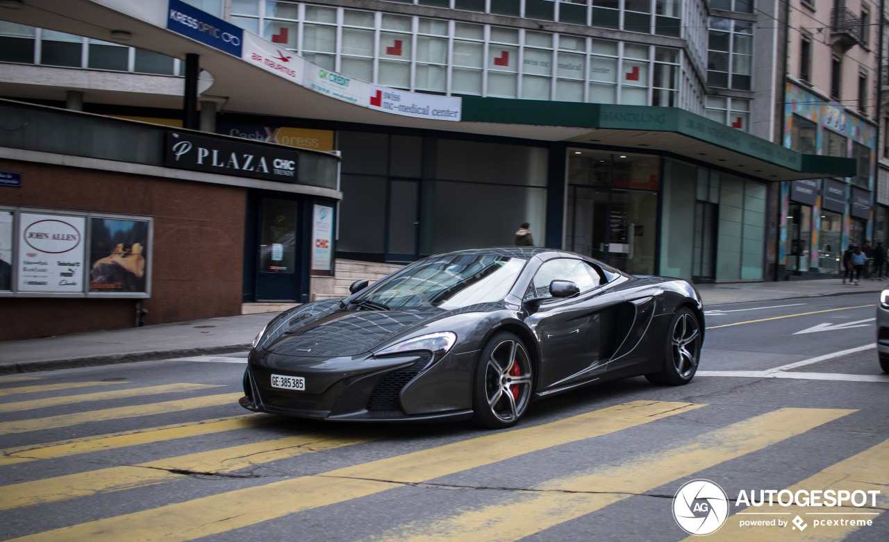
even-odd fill
[[[333,357],[370,352],[409,328],[447,311],[333,310],[281,334],[263,345],[268,352],[300,357]]]

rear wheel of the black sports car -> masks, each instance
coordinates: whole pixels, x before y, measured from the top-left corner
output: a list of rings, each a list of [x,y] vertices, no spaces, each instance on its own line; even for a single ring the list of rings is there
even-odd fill
[[[701,359],[701,323],[691,309],[682,307],[673,315],[664,345],[661,371],[646,374],[652,384],[682,386],[698,371]]]

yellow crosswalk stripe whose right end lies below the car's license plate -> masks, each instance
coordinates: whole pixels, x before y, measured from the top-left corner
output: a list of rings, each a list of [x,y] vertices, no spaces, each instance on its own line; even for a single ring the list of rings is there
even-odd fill
[[[91,451],[114,450],[150,442],[172,441],[201,434],[221,433],[248,427],[268,425],[276,420],[263,414],[242,414],[226,418],[203,419],[200,421],[173,424],[171,426],[133,429],[114,434],[99,434],[68,441],[46,442],[29,446],[19,446],[0,450],[0,466],[25,463],[37,459],[65,458]]]

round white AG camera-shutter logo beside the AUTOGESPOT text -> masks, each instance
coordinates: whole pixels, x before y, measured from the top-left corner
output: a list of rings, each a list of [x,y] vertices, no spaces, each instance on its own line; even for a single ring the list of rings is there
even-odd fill
[[[673,498],[673,519],[689,534],[709,535],[719,530],[727,518],[728,497],[709,480],[686,482]]]

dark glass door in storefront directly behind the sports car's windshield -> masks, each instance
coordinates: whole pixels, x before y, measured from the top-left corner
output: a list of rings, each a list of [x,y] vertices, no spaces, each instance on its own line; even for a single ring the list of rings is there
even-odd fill
[[[419,196],[420,183],[416,180],[389,182],[386,261],[410,262],[419,258]]]

